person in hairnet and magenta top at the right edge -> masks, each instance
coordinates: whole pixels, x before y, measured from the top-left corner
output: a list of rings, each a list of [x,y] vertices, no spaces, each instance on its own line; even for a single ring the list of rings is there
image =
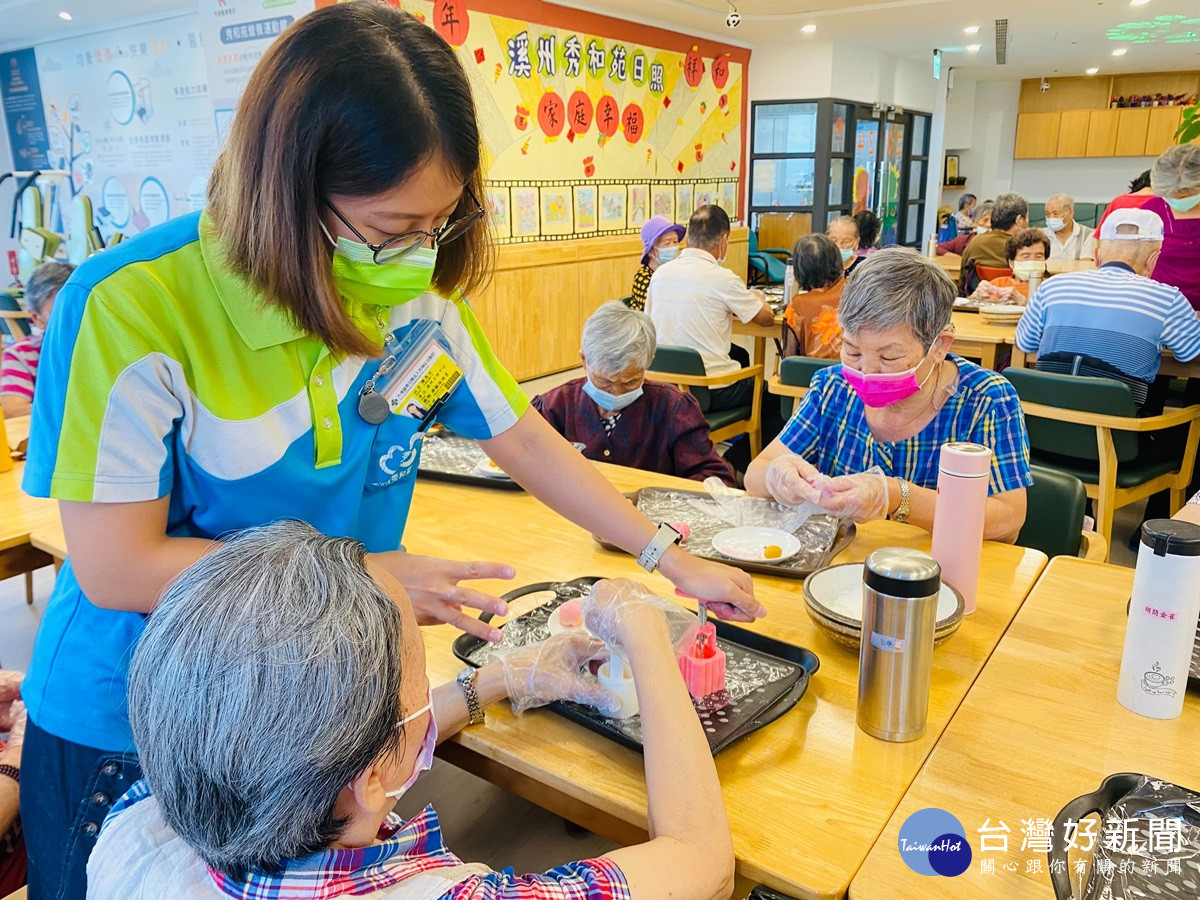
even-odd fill
[[[1163,220],[1163,253],[1150,277],[1174,284],[1200,310],[1200,146],[1166,150],[1150,170],[1154,197],[1142,209]]]

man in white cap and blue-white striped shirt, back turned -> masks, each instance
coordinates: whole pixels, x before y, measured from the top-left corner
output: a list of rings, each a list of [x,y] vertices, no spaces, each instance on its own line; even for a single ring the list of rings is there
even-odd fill
[[[1122,209],[1104,220],[1092,271],[1056,275],[1030,300],[1016,346],[1037,367],[1116,378],[1144,413],[1164,349],[1181,361],[1200,355],[1200,319],[1178,288],[1147,277],[1163,248],[1163,220]]]

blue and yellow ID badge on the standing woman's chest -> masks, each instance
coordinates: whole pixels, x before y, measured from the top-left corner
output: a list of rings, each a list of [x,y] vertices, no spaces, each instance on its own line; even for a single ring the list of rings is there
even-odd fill
[[[379,368],[383,377],[377,372],[359,400],[359,412],[372,425],[382,425],[389,415],[403,415],[424,427],[463,377],[442,328],[428,319],[418,322]]]

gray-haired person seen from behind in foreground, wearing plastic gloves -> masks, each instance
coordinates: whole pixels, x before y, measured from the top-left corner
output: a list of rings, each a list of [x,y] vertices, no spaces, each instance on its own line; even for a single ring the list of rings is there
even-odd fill
[[[473,694],[431,689],[412,604],[361,544],[300,522],[235,535],[168,588],[133,654],[144,780],[104,822],[88,896],[727,898],[728,821],[676,662],[694,618],[629,581],[596,584],[583,618],[587,631],[502,646]],[[488,704],[612,703],[581,674],[605,644],[653,688],[638,690],[649,841],[517,876],[458,859],[432,806],[392,814],[438,740]]]

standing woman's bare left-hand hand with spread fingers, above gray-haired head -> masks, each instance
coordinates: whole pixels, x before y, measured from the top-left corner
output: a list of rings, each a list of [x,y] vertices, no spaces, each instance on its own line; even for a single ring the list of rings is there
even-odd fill
[[[421,625],[445,623],[460,631],[475,635],[485,641],[499,643],[502,635],[498,628],[468,616],[464,606],[473,610],[506,616],[509,605],[498,596],[472,590],[458,584],[461,581],[476,578],[512,578],[516,572],[511,565],[503,563],[462,563],[437,557],[422,557],[403,551],[372,553],[368,559],[382,566],[406,592],[416,622]]]

